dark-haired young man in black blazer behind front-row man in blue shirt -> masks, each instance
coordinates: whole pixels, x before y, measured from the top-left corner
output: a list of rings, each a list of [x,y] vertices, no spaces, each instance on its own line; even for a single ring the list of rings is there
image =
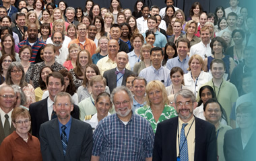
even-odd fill
[[[30,115],[32,123],[32,135],[39,138],[40,125],[46,121],[49,121],[56,117],[53,111],[53,101],[55,95],[60,93],[64,88],[64,77],[59,72],[52,72],[46,77],[46,83],[49,89],[49,97],[32,103],[30,105]],[[79,107],[73,105],[74,109],[71,111],[71,115],[75,119],[79,119]]]

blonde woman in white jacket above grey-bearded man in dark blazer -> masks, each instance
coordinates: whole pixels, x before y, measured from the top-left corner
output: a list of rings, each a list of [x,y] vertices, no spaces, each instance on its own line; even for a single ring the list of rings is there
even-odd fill
[[[185,86],[190,87],[190,90],[197,96],[199,88],[209,80],[212,75],[203,71],[203,59],[201,56],[195,54],[189,59],[189,72],[184,74]]]

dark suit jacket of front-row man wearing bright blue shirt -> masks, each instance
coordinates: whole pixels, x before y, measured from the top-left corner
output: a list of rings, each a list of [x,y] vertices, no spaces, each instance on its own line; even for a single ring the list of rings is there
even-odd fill
[[[51,121],[42,123],[40,126],[40,147],[42,152],[42,160],[91,160],[92,127],[84,121],[73,118],[71,119],[71,129],[65,157],[61,144],[61,134],[59,132],[58,119],[55,118]]]

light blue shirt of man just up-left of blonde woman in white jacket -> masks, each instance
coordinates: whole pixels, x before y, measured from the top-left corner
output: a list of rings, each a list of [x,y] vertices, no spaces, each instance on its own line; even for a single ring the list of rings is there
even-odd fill
[[[189,68],[189,56],[183,59],[182,62],[179,56],[171,58],[166,62],[166,68],[168,68],[169,70],[172,70],[174,66],[179,66],[183,70],[184,74],[186,74],[188,72],[187,68]]]

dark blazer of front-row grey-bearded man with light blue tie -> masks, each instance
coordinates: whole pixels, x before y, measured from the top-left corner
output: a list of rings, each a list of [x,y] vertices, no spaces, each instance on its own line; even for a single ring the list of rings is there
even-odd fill
[[[153,160],[177,160],[178,118],[173,117],[158,123],[156,129]],[[195,117],[195,157],[196,161],[216,161],[217,145],[214,125]]]

